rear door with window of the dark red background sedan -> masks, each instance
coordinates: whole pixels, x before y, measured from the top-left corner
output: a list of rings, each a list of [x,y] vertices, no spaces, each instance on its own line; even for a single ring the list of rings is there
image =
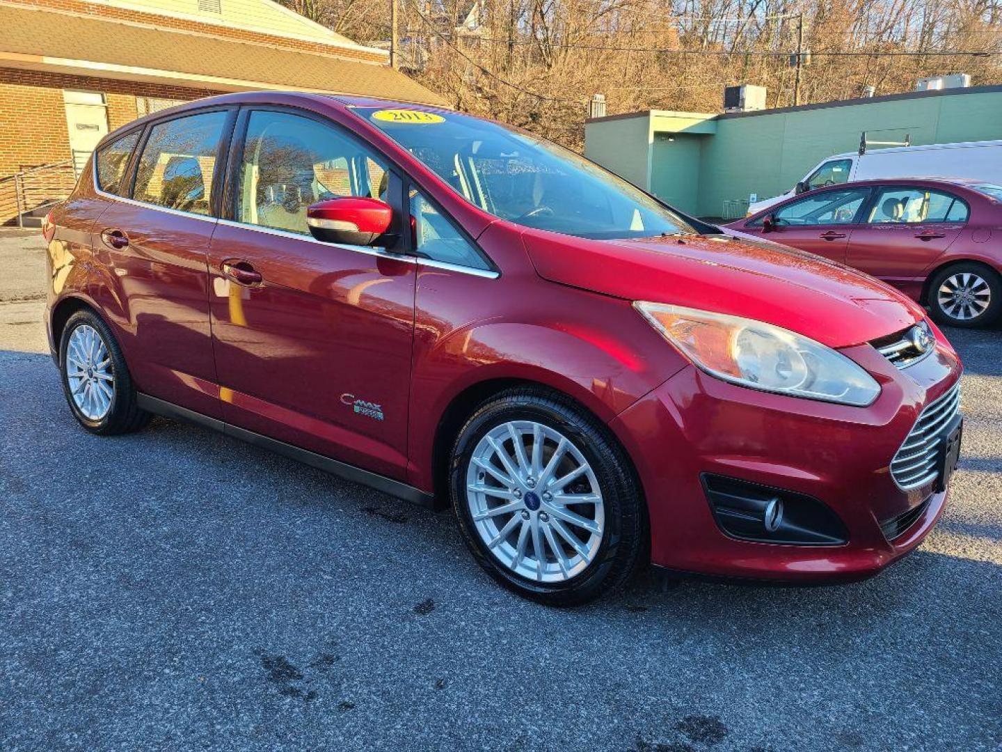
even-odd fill
[[[957,240],[968,218],[958,197],[922,186],[882,186],[854,228],[847,261],[867,274],[907,288]]]

